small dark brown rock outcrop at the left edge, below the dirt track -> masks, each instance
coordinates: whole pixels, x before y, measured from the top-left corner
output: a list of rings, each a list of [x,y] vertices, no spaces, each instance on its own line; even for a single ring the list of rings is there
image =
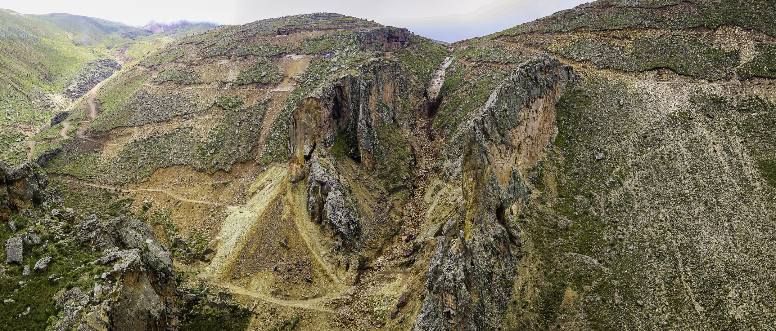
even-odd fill
[[[61,205],[61,188],[50,188],[48,184],[46,173],[33,162],[12,167],[0,163],[0,219],[7,220],[9,215],[32,205]]]

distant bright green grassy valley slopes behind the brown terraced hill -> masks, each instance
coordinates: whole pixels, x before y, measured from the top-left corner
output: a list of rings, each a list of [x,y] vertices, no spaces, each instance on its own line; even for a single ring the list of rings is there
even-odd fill
[[[88,61],[106,57],[116,47],[145,54],[185,34],[212,27],[210,23],[181,26],[165,33],[70,14],[23,15],[0,9],[0,125],[45,122],[54,114],[33,105],[48,93],[66,88]],[[112,55],[119,55],[113,53]],[[37,91],[33,87],[38,88]]]

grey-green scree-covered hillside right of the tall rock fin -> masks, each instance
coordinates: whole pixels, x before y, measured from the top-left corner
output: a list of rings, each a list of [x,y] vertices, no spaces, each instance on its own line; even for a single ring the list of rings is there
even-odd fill
[[[502,329],[771,327],[772,221],[757,215],[774,199],[774,34],[761,20],[773,12],[592,2],[456,43],[440,135],[466,134],[456,114],[485,107],[474,87],[504,66],[546,52],[577,76],[556,102],[556,139],[525,168],[523,208],[502,209],[522,243]],[[442,167],[454,174],[456,160]]]

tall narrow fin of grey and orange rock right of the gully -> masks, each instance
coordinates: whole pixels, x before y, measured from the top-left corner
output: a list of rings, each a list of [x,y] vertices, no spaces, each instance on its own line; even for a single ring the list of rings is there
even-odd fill
[[[463,147],[466,219],[450,219],[428,267],[414,330],[497,329],[520,259],[511,222],[528,196],[521,170],[542,156],[556,132],[555,102],[570,66],[541,54],[515,69],[469,124]]]

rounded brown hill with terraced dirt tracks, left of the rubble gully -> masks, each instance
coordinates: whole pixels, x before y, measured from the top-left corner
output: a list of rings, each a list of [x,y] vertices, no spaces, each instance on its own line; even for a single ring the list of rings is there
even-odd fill
[[[430,81],[448,55],[336,14],[220,26],[104,81],[40,133],[67,138],[39,142],[35,158],[66,181],[130,192],[127,208],[151,224],[165,215],[158,236],[192,271],[190,294],[217,288],[270,309],[251,323],[296,307],[322,329],[373,327],[419,277],[401,273],[419,241],[379,262],[393,276],[369,264],[402,232],[413,151],[428,139],[415,137],[418,114],[438,103]],[[343,305],[349,286],[364,297]],[[372,300],[386,304],[369,315],[380,319],[357,312]],[[202,319],[187,302],[182,320]]]

